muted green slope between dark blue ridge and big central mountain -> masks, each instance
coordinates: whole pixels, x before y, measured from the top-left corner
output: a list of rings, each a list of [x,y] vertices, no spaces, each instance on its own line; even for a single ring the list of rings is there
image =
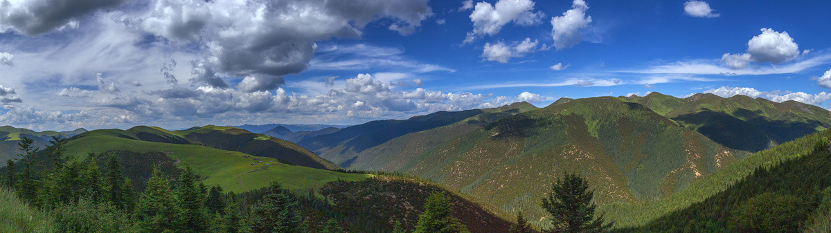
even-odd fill
[[[399,171],[407,163],[440,146],[442,143],[458,138],[465,133],[481,129],[498,119],[538,109],[532,104],[515,103],[494,109],[482,109],[484,113],[477,114],[454,124],[407,133],[404,136],[393,138],[373,148],[358,153],[350,169]]]

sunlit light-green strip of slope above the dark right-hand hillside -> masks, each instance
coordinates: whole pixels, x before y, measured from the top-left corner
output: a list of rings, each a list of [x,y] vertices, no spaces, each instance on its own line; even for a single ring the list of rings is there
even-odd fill
[[[637,204],[617,203],[602,206],[601,210],[607,211],[609,216],[617,219],[616,226],[618,227],[642,226],[666,213],[684,209],[726,190],[741,178],[749,176],[756,167],[770,167],[787,159],[804,157],[814,150],[814,144],[828,142],[831,140],[829,138],[831,138],[831,130],[813,133],[730,163],[719,172],[693,182],[690,187],[673,193],[670,197]]]

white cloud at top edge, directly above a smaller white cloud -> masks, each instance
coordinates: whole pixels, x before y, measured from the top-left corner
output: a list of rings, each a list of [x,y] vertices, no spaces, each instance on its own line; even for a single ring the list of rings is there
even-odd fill
[[[470,6],[469,3],[473,4],[464,2],[462,8]],[[478,2],[470,13],[473,32],[468,32],[465,43],[475,41],[484,35],[494,36],[510,22],[521,26],[534,25],[540,22],[542,17],[543,12],[534,12],[534,1],[531,0],[499,0],[494,5]]]

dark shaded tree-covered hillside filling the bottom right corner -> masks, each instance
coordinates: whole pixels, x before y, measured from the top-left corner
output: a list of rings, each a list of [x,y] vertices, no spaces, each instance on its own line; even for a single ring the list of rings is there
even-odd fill
[[[725,191],[637,231],[829,232],[831,153],[823,140],[813,148],[808,156],[757,167]]]

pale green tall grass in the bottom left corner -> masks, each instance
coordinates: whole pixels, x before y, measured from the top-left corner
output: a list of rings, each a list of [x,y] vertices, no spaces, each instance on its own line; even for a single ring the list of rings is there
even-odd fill
[[[0,187],[0,232],[52,232],[52,216],[37,211],[17,197],[17,194]]]

